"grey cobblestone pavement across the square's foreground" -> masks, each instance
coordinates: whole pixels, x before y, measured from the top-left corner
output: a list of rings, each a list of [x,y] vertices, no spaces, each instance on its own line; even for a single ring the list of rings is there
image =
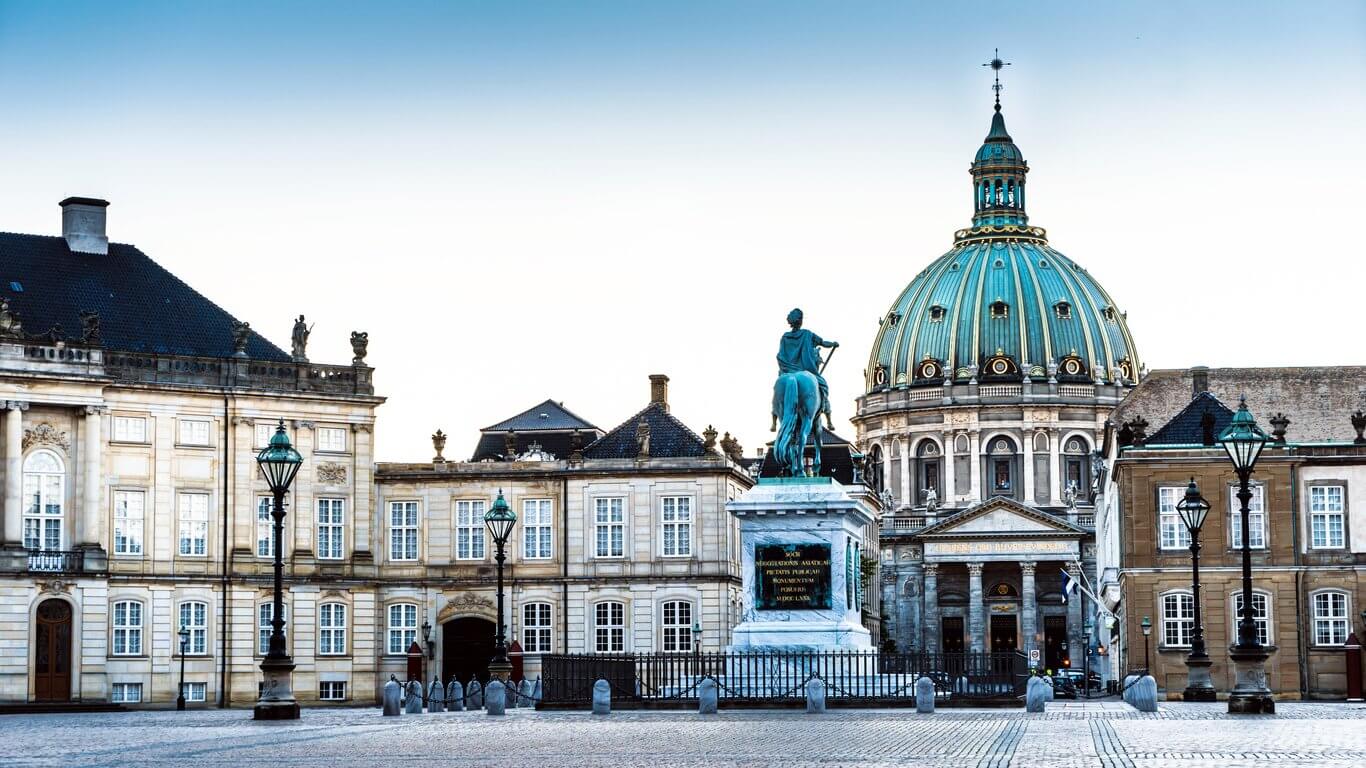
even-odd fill
[[[1366,705],[1283,702],[1231,717],[1223,704],[1113,702],[1022,711],[836,709],[585,712],[514,709],[381,717],[310,709],[295,723],[250,711],[0,716],[0,765],[500,767],[1101,767],[1366,765]]]

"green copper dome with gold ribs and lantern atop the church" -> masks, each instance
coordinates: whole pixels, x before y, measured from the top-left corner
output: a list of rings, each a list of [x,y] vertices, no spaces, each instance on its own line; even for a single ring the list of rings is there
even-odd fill
[[[882,318],[867,391],[1023,379],[1134,383],[1141,368],[1124,313],[1029,225],[1029,165],[1000,105],[971,165],[973,227],[915,276]]]

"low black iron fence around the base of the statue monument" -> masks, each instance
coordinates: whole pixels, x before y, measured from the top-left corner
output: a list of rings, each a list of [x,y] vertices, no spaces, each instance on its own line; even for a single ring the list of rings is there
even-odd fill
[[[739,707],[798,705],[811,679],[825,683],[832,705],[910,707],[921,678],[933,681],[941,705],[1020,704],[1029,668],[1018,652],[626,653],[542,656],[541,676],[546,708],[589,707],[600,679],[613,707],[687,707],[703,679]]]

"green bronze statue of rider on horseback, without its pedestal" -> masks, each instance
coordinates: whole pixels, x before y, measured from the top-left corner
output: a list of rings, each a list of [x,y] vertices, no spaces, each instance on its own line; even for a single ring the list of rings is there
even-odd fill
[[[831,422],[831,389],[821,376],[829,358],[821,361],[820,347],[829,348],[833,355],[840,344],[802,328],[800,309],[790,312],[787,323],[792,329],[783,333],[779,343],[777,383],[773,384],[773,424],[769,428],[777,432],[773,458],[783,477],[806,477],[803,456],[806,443],[811,440],[816,443],[816,461],[810,474],[820,476],[821,414],[825,414],[825,426],[835,428]]]

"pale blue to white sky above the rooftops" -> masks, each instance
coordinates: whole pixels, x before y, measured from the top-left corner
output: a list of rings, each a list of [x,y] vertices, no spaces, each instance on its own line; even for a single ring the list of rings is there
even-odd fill
[[[968,223],[990,71],[1030,223],[1149,368],[1361,365],[1366,4],[0,0],[0,230],[111,201],[288,348],[370,333],[377,456],[553,398],[769,440],[799,306],[841,343]]]

